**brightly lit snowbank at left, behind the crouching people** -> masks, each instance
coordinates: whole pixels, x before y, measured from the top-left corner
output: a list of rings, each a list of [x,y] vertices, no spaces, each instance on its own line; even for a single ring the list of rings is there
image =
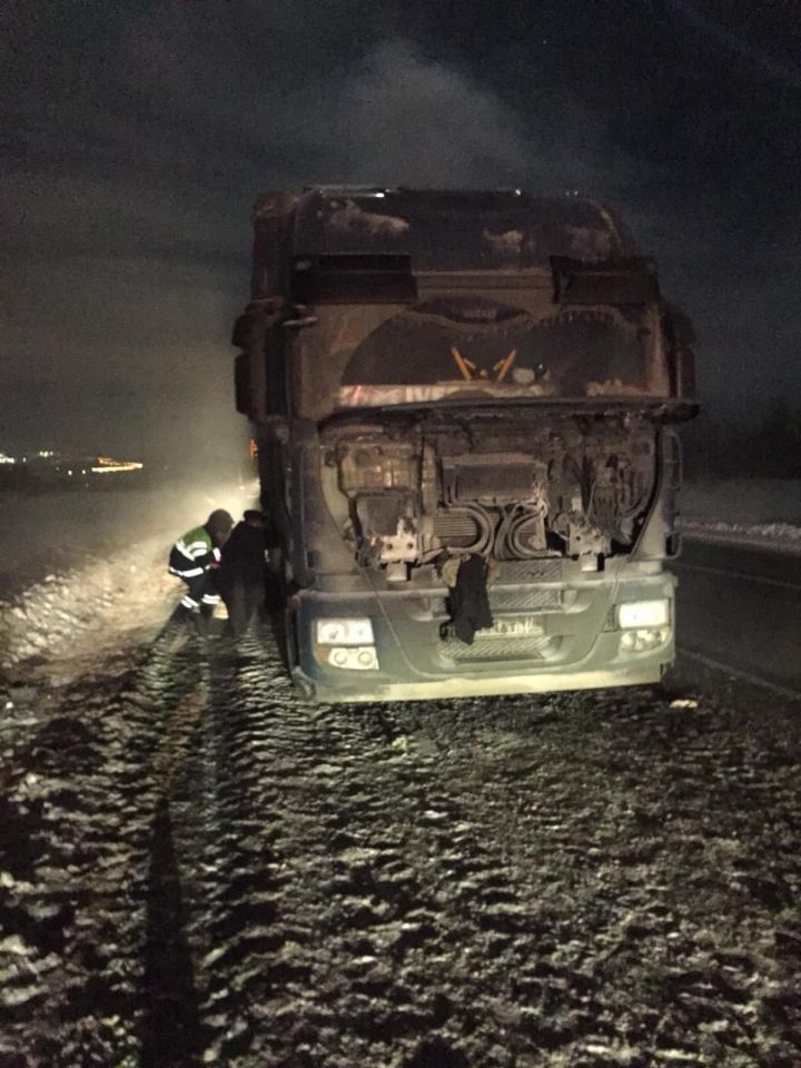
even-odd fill
[[[27,664],[66,681],[152,635],[184,587],[169,545],[212,508],[238,518],[255,485],[4,495],[0,507],[0,682]]]

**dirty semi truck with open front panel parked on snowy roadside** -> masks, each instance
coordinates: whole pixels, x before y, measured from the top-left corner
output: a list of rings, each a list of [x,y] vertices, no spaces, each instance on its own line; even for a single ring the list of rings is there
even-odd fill
[[[352,701],[657,681],[689,334],[593,200],[263,197],[237,407],[297,590],[298,684]]]

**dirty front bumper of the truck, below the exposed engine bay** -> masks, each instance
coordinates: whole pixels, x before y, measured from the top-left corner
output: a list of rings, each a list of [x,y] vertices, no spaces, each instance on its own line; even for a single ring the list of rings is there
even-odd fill
[[[301,591],[297,613],[294,678],[320,701],[403,701],[508,693],[544,693],[621,685],[647,685],[662,678],[674,656],[674,577],[655,574],[596,576],[520,586],[498,584],[491,601],[496,620],[536,621],[537,635],[500,639],[476,633],[473,645],[443,640],[444,586],[365,593],[363,590]],[[510,599],[538,607],[507,611]],[[526,596],[528,594],[530,596]],[[546,596],[545,594],[551,594]],[[615,605],[666,597],[671,626],[657,647],[621,649]],[[497,605],[502,605],[498,611]],[[313,640],[325,616],[368,616],[378,669],[348,671],[323,662]]]

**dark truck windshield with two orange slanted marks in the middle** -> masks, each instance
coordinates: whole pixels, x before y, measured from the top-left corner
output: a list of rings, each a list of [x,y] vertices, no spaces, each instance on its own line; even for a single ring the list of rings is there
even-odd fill
[[[642,394],[643,312],[557,309],[534,316],[471,296],[428,300],[383,323],[353,350],[339,405],[455,394],[585,397]]]

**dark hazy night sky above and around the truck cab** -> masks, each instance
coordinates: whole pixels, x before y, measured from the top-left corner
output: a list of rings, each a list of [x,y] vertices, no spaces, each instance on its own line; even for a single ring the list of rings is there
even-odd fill
[[[798,0],[4,0],[0,451],[236,451],[256,195],[577,189],[699,333],[703,402],[801,402]]]

